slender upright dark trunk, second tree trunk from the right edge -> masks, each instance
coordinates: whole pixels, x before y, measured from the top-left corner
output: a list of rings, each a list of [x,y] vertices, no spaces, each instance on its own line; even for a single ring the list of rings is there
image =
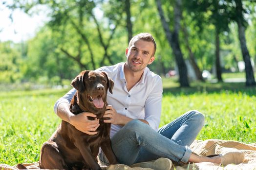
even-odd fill
[[[221,77],[221,66],[220,66],[220,57],[219,57],[219,29],[215,28],[215,67],[216,67],[216,76],[218,82],[223,82]]]

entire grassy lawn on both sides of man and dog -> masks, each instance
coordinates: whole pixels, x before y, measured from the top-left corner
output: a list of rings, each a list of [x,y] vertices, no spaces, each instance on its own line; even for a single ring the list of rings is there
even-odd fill
[[[180,88],[163,79],[164,97],[160,126],[188,110],[205,115],[197,139],[256,142],[256,88],[244,83],[199,83]],[[53,112],[56,100],[69,89],[0,92],[0,163],[39,160],[40,148],[60,119]]]

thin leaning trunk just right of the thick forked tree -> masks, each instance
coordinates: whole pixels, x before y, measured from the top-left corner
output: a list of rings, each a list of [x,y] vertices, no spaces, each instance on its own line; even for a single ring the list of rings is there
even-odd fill
[[[191,48],[190,48],[190,45],[189,45],[189,35],[188,35],[188,32],[186,30],[186,27],[182,27],[182,31],[184,33],[184,36],[185,36],[185,44],[186,44],[186,47],[189,51],[189,57],[190,57],[190,63],[194,69],[194,72],[195,72],[195,75],[196,75],[196,78],[197,80],[201,80],[201,81],[204,81],[203,79],[203,76],[202,76],[202,71],[200,70],[200,68],[198,67],[196,61],[195,61],[195,57],[194,57],[194,53],[192,52]]]

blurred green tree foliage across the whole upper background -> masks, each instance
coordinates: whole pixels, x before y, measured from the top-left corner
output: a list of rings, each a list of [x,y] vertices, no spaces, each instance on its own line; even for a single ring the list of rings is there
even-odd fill
[[[174,55],[164,33],[155,0],[129,0],[133,35],[151,33],[157,43],[156,59],[149,68],[165,75],[176,68]],[[173,30],[174,1],[161,0],[166,20]],[[213,70],[215,28],[221,27],[221,66],[235,68],[242,61],[234,17],[234,0],[182,0],[179,42],[184,58],[189,58],[185,38],[200,70]],[[254,1],[242,1],[248,22],[246,39],[256,62]],[[125,0],[14,0],[3,2],[34,15],[47,6],[50,20],[25,42],[0,42],[0,84],[25,83],[63,85],[81,70],[95,69],[126,61],[128,46]],[[45,9],[45,8],[44,8]],[[198,9],[198,10],[197,10]],[[228,15],[228,16],[227,16]],[[11,17],[11,16],[10,16]],[[230,18],[227,18],[230,17]],[[225,21],[225,22],[224,22]],[[231,22],[232,21],[232,22]],[[229,23],[227,27],[227,22]],[[223,26],[223,29],[222,29]],[[230,31],[228,31],[230,30]],[[236,61],[237,60],[237,61]]]

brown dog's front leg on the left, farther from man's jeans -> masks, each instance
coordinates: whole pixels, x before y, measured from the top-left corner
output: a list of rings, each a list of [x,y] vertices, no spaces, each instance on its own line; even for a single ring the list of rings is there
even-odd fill
[[[100,165],[96,161],[96,158],[93,157],[89,145],[85,145],[84,142],[76,142],[76,147],[79,149],[82,154],[86,164],[91,170],[101,170]]]

